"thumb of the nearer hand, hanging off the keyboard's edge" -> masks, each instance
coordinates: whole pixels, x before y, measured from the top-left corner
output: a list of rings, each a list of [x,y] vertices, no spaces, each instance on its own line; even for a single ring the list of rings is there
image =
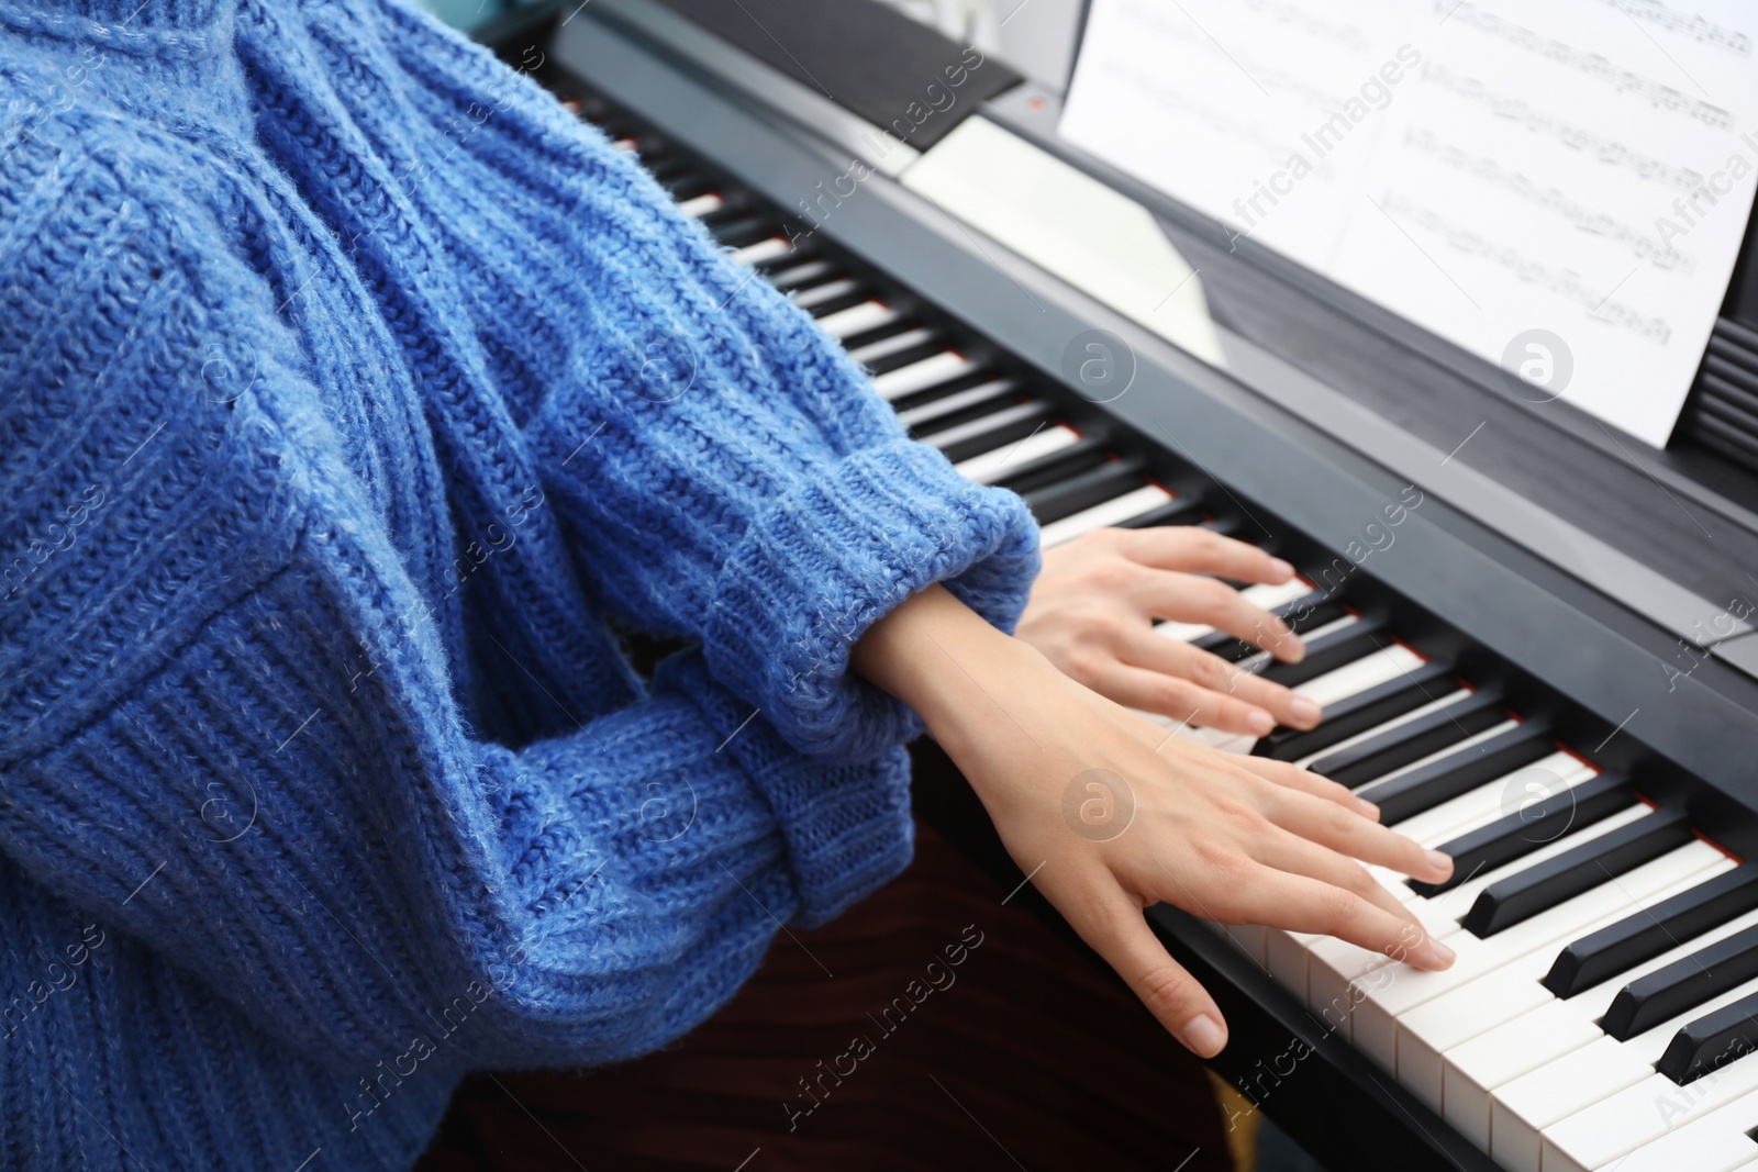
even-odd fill
[[[1197,1058],[1218,1054],[1227,1045],[1227,1023],[1215,998],[1167,954],[1141,917],[1141,905],[1122,887],[1078,905],[1079,912],[1069,915],[1069,922],[1148,1012]]]

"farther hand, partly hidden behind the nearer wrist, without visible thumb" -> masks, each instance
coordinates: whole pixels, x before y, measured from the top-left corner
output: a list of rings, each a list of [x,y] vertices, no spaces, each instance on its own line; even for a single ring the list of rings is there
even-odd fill
[[[1197,525],[1095,529],[1044,550],[1020,638],[1127,708],[1253,736],[1318,724],[1304,696],[1155,633],[1157,619],[1199,622],[1299,662],[1306,648],[1285,622],[1210,575],[1280,585],[1294,568]]]

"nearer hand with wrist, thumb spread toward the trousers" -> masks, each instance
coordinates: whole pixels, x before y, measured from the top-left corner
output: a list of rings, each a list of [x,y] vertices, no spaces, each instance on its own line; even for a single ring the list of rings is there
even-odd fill
[[[1290,764],[1159,736],[933,587],[874,624],[854,669],[909,703],[983,799],[1014,863],[1188,1049],[1227,1042],[1213,998],[1141,915],[1329,933],[1419,968],[1427,940],[1361,863],[1438,882],[1452,861]]]

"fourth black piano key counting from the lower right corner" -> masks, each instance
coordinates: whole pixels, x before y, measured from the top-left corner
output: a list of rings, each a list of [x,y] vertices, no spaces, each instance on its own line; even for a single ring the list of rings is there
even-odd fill
[[[1475,937],[1493,937],[1688,842],[1691,824],[1684,810],[1658,810],[1491,884],[1459,926]]]

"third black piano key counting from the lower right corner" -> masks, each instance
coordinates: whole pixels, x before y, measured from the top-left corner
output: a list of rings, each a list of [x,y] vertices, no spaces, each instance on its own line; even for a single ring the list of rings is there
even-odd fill
[[[1540,984],[1558,996],[1575,996],[1679,947],[1681,940],[1700,937],[1754,910],[1758,910],[1758,863],[1742,863],[1732,872],[1575,940],[1563,949]]]

